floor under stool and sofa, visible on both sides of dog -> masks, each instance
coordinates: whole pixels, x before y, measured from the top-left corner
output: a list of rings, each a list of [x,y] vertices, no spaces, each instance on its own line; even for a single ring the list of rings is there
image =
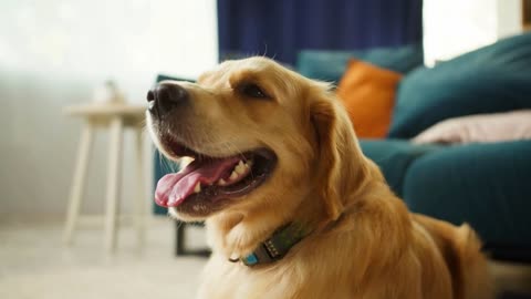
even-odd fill
[[[195,296],[206,262],[199,257],[174,257],[175,227],[166,217],[149,220],[142,251],[134,227],[123,225],[117,254],[111,257],[104,250],[103,226],[94,220],[80,226],[70,248],[62,245],[60,219],[0,220],[2,299],[188,299]],[[204,229],[187,229],[187,246],[205,248]],[[496,262],[491,269],[499,287],[531,295],[530,266]]]

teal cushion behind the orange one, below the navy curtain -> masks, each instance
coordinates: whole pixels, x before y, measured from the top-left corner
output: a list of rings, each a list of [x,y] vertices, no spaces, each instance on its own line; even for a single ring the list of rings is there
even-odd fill
[[[308,78],[339,82],[351,58],[399,73],[407,73],[424,63],[419,44],[360,51],[304,50],[298,55],[296,70]]]

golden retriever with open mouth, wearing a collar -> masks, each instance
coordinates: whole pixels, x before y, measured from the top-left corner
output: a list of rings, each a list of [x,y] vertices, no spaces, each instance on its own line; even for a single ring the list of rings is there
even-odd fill
[[[206,221],[199,298],[491,298],[472,229],[408,213],[330,84],[249,58],[147,100],[162,153],[194,158],[155,200]]]

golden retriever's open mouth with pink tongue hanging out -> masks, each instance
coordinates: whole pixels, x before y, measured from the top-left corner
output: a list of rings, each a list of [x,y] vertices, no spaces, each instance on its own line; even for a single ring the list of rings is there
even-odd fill
[[[165,147],[177,156],[195,159],[180,172],[160,178],[155,202],[163,207],[180,207],[190,202],[211,204],[246,195],[266,182],[277,161],[269,150],[210,157],[176,142]]]

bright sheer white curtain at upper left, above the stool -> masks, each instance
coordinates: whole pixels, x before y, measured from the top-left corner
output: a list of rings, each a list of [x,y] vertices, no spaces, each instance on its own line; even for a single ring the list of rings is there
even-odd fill
[[[119,80],[217,61],[215,0],[2,0],[0,17],[10,69]]]

